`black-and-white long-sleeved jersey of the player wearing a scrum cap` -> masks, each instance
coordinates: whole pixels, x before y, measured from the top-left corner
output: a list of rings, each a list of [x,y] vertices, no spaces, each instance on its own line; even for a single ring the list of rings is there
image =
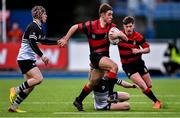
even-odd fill
[[[35,54],[41,57],[43,53],[37,46],[38,42],[45,45],[57,44],[57,41],[45,39],[42,27],[39,26],[36,21],[33,21],[27,26],[23,34],[21,48],[19,50],[17,60],[36,60]]]

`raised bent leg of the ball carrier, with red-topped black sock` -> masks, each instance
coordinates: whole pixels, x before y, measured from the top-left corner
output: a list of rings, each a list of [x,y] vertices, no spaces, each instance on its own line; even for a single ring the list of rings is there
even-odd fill
[[[114,84],[117,82],[118,65],[108,57],[102,57],[99,61],[99,68],[107,70],[106,78],[109,82],[109,94],[113,94]]]

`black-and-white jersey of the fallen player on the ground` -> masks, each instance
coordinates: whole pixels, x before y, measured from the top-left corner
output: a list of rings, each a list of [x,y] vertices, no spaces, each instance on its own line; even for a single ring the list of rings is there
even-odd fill
[[[109,103],[107,102],[109,90],[108,90],[108,81],[101,79],[99,84],[93,89],[94,97],[94,108],[103,109]]]

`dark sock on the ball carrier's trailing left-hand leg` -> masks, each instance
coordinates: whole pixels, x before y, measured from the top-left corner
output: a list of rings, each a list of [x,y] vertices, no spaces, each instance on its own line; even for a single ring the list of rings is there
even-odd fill
[[[78,97],[78,101],[79,102],[82,102],[84,100],[84,98],[89,95],[89,93],[91,92],[92,90],[87,86],[85,85],[84,88],[82,89],[79,97]]]

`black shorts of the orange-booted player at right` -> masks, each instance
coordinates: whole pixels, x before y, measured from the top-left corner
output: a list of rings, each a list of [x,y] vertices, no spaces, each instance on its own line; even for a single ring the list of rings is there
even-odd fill
[[[132,74],[136,72],[138,72],[141,76],[149,73],[149,70],[145,66],[145,63],[142,59],[139,59],[138,61],[129,64],[123,64],[122,68],[129,78]]]

